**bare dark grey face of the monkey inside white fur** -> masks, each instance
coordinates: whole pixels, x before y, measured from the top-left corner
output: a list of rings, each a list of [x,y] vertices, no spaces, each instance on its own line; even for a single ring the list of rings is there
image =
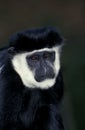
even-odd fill
[[[43,51],[36,52],[26,57],[30,69],[34,73],[37,82],[45,79],[54,78],[55,73],[53,63],[55,61],[55,52]]]

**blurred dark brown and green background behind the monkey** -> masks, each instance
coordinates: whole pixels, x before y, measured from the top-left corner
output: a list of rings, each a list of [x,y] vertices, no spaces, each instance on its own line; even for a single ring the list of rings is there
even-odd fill
[[[85,130],[85,0],[0,0],[0,46],[17,31],[47,25],[57,26],[65,38],[65,128]]]

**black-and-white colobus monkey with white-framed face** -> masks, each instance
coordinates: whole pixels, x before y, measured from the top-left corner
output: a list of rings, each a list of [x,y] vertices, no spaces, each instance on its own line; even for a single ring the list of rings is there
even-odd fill
[[[0,130],[64,130],[62,45],[45,27],[14,34],[0,50]]]

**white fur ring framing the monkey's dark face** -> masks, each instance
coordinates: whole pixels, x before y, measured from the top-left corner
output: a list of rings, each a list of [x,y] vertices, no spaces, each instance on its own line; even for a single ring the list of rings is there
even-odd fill
[[[42,82],[37,82],[34,79],[34,74],[30,70],[27,62],[26,62],[26,56],[33,54],[35,52],[41,52],[41,51],[55,51],[55,62],[54,62],[54,71],[55,71],[55,78],[54,79],[46,79]],[[59,69],[60,69],[60,53],[59,53],[59,46],[54,47],[52,49],[44,48],[40,50],[35,50],[28,53],[21,53],[14,56],[12,59],[12,64],[14,67],[14,70],[18,73],[20,76],[23,84],[28,88],[41,88],[41,89],[47,89],[52,87],[55,84],[56,77],[58,75]]]

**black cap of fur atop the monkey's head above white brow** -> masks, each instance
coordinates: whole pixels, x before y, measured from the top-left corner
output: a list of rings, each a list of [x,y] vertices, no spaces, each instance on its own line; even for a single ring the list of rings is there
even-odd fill
[[[15,51],[32,51],[45,47],[52,48],[56,45],[61,45],[62,37],[56,28],[35,28],[26,30],[13,35],[10,38],[10,46],[15,48]]]

